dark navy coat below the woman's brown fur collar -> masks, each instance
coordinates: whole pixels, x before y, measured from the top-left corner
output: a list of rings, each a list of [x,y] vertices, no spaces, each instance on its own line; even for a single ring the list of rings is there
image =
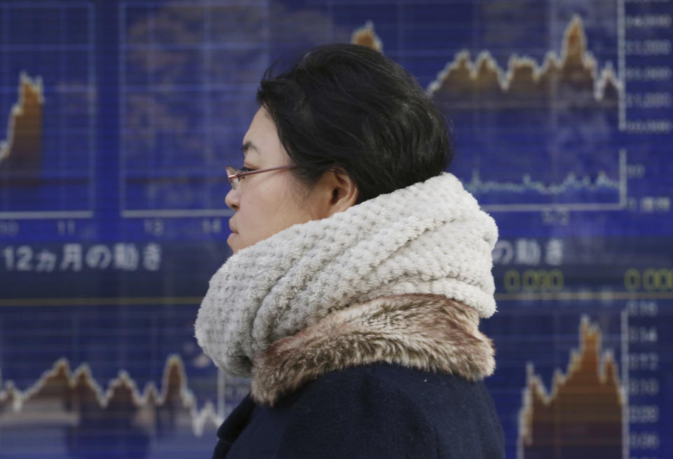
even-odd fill
[[[504,458],[481,382],[393,364],[332,371],[278,399],[243,399],[213,458]]]

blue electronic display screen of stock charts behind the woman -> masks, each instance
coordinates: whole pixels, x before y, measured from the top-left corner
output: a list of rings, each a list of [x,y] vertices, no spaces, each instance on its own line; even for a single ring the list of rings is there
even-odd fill
[[[193,338],[259,79],[372,46],[491,213],[508,457],[669,458],[673,2],[0,1],[0,457],[208,457]],[[560,446],[564,445],[564,447]],[[572,446],[570,448],[569,446]]]

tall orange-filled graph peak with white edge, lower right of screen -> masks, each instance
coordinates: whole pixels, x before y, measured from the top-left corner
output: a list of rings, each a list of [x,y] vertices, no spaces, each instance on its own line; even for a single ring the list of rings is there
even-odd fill
[[[565,373],[555,371],[549,391],[533,364],[526,368],[517,458],[618,458],[626,406],[613,354],[602,352],[601,331],[583,317],[580,349],[571,352]]]

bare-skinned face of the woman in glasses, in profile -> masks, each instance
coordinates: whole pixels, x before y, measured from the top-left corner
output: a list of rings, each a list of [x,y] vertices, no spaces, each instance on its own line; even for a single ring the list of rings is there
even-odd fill
[[[276,124],[264,107],[254,115],[243,137],[243,152],[243,166],[251,170],[290,164]],[[289,169],[242,178],[238,188],[226,194],[226,205],[234,211],[229,220],[231,235],[226,240],[233,253],[296,223],[325,217],[325,208],[319,199],[312,199],[312,192]]]

